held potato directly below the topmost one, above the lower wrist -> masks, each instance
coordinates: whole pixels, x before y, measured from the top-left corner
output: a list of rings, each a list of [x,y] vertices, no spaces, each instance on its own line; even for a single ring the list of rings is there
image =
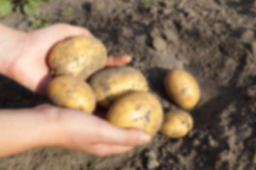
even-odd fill
[[[90,86],[81,79],[70,76],[55,77],[47,86],[47,95],[57,106],[92,113],[96,99]]]

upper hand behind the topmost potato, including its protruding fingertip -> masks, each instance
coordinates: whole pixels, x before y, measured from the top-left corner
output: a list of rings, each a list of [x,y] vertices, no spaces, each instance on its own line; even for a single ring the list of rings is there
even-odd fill
[[[73,36],[93,36],[85,28],[65,24],[49,26],[31,33],[15,32],[15,35],[16,40],[10,45],[12,49],[5,48],[6,52],[2,52],[9,54],[14,49],[16,51],[15,55],[9,57],[11,61],[6,66],[6,75],[27,89],[40,94],[45,92],[46,84],[50,79],[50,70],[46,63],[50,48],[57,42]],[[122,66],[130,61],[129,55],[108,57],[107,67]]]

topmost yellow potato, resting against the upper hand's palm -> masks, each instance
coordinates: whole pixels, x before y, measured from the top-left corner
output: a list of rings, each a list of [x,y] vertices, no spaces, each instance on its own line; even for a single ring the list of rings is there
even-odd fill
[[[55,76],[69,75],[87,79],[91,74],[105,67],[107,50],[105,46],[89,36],[78,36],[59,42],[50,51],[48,64]]]

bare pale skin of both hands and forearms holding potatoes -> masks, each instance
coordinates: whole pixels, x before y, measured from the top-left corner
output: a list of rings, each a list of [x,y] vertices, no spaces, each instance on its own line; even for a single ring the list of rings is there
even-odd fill
[[[93,36],[85,28],[66,24],[31,33],[0,24],[0,74],[44,95],[49,81],[46,59],[50,48],[77,35]],[[107,67],[130,61],[129,55],[108,57]],[[142,130],[116,128],[95,115],[51,105],[0,110],[0,134],[0,158],[50,146],[102,157],[127,152],[151,140]]]

